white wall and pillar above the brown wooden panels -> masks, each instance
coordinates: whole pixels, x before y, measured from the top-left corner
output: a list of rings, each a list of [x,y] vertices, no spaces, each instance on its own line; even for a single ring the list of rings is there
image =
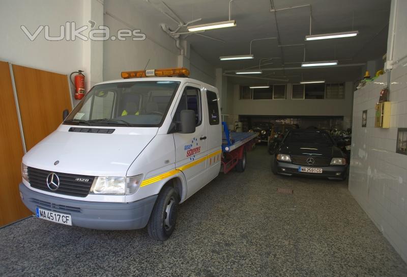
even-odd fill
[[[99,73],[95,70],[93,78],[87,75],[91,71],[91,58],[88,58],[91,53],[90,41],[84,42],[80,39],[47,41],[44,30],[34,41],[30,41],[20,26],[24,25],[34,33],[40,25],[48,25],[50,35],[56,37],[60,35],[60,26],[65,25],[66,22],[76,22],[76,27],[79,28],[89,24],[88,20],[91,19],[99,24],[103,23],[103,5],[97,0],[2,0],[0,2],[0,37],[2,38],[0,60],[67,75],[77,70],[84,70],[86,89],[89,89],[91,81],[102,81],[101,70]],[[94,45],[94,42],[92,44]],[[103,52],[100,46],[102,46],[101,43],[99,43],[99,51],[92,51],[93,60],[99,60],[99,63]]]

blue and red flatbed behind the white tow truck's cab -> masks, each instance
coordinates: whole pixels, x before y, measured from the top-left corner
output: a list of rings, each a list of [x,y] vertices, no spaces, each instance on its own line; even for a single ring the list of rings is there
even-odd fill
[[[226,174],[233,169],[239,161],[244,159],[246,164],[246,152],[251,151],[256,132],[229,132],[226,122],[222,122],[222,165],[223,173]],[[243,168],[244,170],[244,168]],[[241,171],[243,171],[241,170]]]

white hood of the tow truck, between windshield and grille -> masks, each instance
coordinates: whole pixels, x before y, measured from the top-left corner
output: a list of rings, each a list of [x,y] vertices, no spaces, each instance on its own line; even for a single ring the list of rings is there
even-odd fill
[[[111,127],[113,133],[72,132],[61,125],[23,157],[30,167],[89,176],[124,177],[158,128]],[[98,128],[103,127],[89,127]],[[57,162],[56,165],[54,163]]]

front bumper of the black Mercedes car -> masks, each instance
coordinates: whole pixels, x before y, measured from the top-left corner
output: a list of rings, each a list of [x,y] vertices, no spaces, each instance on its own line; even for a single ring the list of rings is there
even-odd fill
[[[335,166],[305,166],[305,165],[298,165],[289,162],[279,162],[275,160],[275,166],[277,169],[277,173],[281,175],[296,175],[296,176],[307,176],[313,178],[328,178],[334,180],[342,180],[347,176],[347,165],[335,165]],[[322,173],[306,173],[298,171],[298,167],[315,167],[315,168],[322,168]]]

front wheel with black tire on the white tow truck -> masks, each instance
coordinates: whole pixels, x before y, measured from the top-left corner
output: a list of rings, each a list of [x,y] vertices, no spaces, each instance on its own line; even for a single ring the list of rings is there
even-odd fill
[[[179,195],[172,187],[164,187],[158,194],[147,230],[151,238],[167,240],[175,228]]]

